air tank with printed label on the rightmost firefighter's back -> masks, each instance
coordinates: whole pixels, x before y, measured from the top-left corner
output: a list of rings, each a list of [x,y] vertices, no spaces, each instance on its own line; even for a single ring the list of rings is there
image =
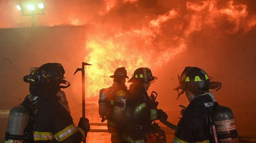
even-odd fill
[[[218,143],[239,143],[231,109],[225,106],[216,107],[212,111],[212,120],[216,128]]]

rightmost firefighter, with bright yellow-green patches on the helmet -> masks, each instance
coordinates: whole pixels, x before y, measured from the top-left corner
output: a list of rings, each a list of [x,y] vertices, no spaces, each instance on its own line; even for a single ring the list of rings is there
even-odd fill
[[[198,67],[185,67],[178,79],[180,86],[175,90],[179,92],[182,89],[178,97],[185,92],[190,103],[187,108],[180,106],[184,108],[181,112],[183,116],[178,123],[173,143],[215,143],[208,115],[218,104],[209,90],[217,87],[220,89],[221,83],[210,82],[211,77]]]

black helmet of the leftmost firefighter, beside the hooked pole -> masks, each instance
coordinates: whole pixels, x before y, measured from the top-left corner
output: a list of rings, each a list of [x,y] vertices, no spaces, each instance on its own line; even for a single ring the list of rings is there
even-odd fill
[[[31,68],[33,69],[33,67]],[[46,63],[40,67],[31,70],[30,74],[24,76],[23,80],[30,84],[39,83],[56,83],[56,85],[66,84],[67,86],[60,86],[67,88],[70,83],[64,80],[65,70],[60,63]]]

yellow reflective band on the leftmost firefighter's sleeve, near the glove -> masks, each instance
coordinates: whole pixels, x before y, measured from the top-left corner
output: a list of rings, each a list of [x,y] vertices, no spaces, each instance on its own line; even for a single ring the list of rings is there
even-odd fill
[[[77,131],[78,131],[78,129],[76,128],[76,126],[74,124],[71,124],[71,125],[65,127],[63,130],[57,132],[54,135],[54,137],[58,142],[60,142],[60,141],[63,141],[64,139],[68,138],[69,136],[71,136],[72,134],[74,134]]]

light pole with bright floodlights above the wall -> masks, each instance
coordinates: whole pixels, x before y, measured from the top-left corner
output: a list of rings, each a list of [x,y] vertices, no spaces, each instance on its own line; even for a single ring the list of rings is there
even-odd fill
[[[22,4],[16,6],[22,12],[21,16],[31,16],[31,26],[35,26],[35,16],[45,15],[45,3],[27,4],[26,8]]]

